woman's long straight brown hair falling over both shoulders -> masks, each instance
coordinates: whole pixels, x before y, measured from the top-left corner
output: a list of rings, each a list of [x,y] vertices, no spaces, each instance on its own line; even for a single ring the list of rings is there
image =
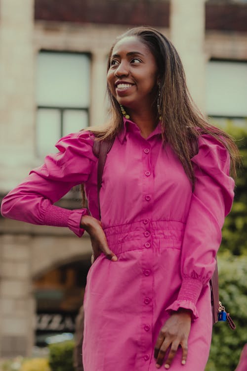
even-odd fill
[[[168,142],[181,161],[184,170],[195,183],[191,157],[196,154],[193,143],[200,134],[209,134],[218,139],[229,151],[230,174],[236,178],[236,165],[240,156],[234,139],[223,130],[210,125],[196,107],[188,91],[181,59],[172,43],[158,30],[151,27],[136,27],[119,36],[113,44],[108,58],[107,71],[114,46],[124,37],[138,37],[153,53],[159,73],[160,116],[163,143]],[[110,102],[110,121],[105,127],[90,127],[98,140],[115,138],[123,129],[120,105],[107,86]],[[158,98],[154,97],[156,100]],[[158,112],[157,112],[158,114]]]

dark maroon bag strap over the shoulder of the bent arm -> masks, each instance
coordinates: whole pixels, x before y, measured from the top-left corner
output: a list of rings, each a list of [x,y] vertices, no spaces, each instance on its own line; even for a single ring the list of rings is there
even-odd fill
[[[93,143],[93,153],[99,159],[98,168],[97,168],[97,192],[98,192],[99,220],[101,219],[99,191],[100,191],[101,184],[102,184],[102,177],[103,177],[104,166],[106,163],[106,156],[107,156],[107,153],[112,148],[113,142],[114,142],[114,138],[108,139],[108,140],[94,140],[94,143]]]

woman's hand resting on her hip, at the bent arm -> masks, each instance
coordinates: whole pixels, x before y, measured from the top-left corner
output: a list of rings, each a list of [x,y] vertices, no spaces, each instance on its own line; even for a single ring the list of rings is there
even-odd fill
[[[83,215],[81,219],[81,228],[83,228],[90,236],[93,255],[91,263],[103,252],[107,259],[116,262],[117,256],[109,249],[105,233],[102,228],[102,223],[89,215]]]

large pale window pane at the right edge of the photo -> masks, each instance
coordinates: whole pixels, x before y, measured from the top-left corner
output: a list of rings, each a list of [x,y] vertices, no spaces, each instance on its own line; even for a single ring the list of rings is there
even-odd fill
[[[206,69],[208,115],[247,116],[247,63],[211,61]]]

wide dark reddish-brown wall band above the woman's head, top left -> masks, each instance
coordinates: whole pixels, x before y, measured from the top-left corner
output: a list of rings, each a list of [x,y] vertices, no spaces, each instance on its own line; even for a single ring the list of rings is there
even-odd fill
[[[168,27],[164,0],[36,0],[35,19]]]

